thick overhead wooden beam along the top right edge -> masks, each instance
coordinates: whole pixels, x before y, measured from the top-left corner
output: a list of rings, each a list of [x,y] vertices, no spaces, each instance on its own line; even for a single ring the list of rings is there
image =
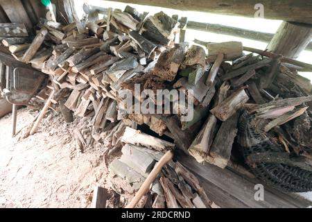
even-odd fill
[[[115,0],[123,3],[134,3],[131,0]],[[257,11],[254,6],[257,0],[137,0],[135,3],[146,6],[158,6],[174,8],[177,10],[191,10],[201,12],[213,12],[223,15],[239,15],[254,17]],[[312,1],[311,0],[262,0],[264,18],[279,19],[291,22],[312,24]]]

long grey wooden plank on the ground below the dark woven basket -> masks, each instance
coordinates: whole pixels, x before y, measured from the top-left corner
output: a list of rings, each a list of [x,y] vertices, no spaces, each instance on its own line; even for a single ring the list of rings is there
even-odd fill
[[[220,193],[225,192],[230,194],[229,198],[235,198],[241,201],[244,205],[248,207],[307,207],[311,205],[311,202],[302,201],[288,194],[284,194],[281,191],[272,190],[264,185],[265,198],[263,201],[254,200],[254,194],[256,190],[254,185],[258,182],[250,182],[242,178],[238,174],[229,171],[228,169],[220,169],[211,164],[199,164],[193,157],[189,157],[183,154],[181,151],[175,154],[176,159],[190,169],[196,175],[205,178],[205,180],[211,182],[220,189]],[[218,194],[215,194],[218,195]],[[222,195],[222,194],[220,194]],[[220,204],[220,207],[223,207]]]

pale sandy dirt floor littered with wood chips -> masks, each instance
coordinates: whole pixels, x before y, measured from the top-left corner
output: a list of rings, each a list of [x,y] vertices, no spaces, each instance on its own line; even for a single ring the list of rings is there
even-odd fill
[[[71,130],[50,112],[35,135],[21,139],[36,112],[22,108],[11,137],[11,114],[0,119],[0,207],[89,207],[95,186],[109,189],[107,207],[123,207],[128,197],[111,189],[102,144],[77,151]],[[118,199],[118,200],[117,200]]]

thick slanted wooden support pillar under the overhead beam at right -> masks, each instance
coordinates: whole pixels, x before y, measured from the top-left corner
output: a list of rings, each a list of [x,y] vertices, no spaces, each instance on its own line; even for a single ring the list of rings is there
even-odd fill
[[[309,44],[311,38],[311,25],[282,22],[267,49],[288,58],[297,58]]]

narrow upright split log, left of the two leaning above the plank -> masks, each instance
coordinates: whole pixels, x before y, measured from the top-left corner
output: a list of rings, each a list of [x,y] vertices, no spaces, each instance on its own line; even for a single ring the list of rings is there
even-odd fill
[[[189,147],[189,152],[199,151],[207,155],[209,153],[212,142],[214,141],[214,136],[218,130],[216,127],[217,119],[213,114],[210,114],[205,122],[204,126],[200,130],[200,133],[193,140],[191,146]],[[203,162],[205,158],[202,159]]]

